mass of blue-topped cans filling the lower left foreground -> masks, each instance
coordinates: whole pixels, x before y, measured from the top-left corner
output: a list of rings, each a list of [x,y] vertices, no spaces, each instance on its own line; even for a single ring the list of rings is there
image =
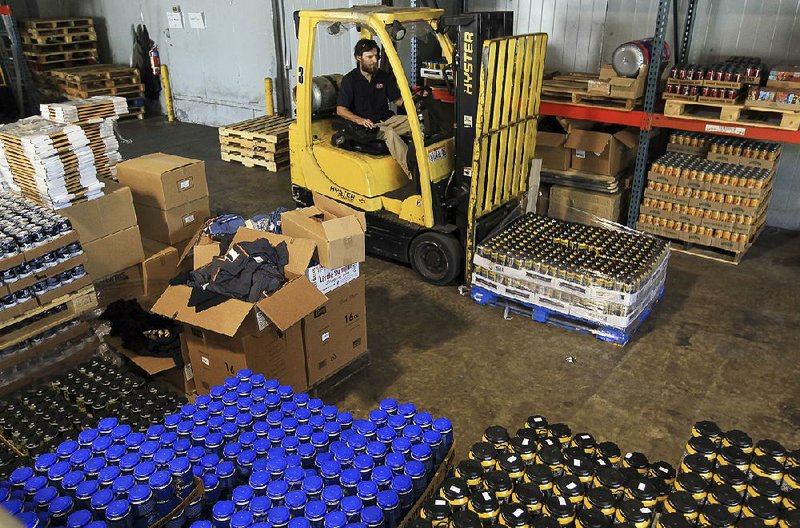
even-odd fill
[[[29,525],[395,528],[452,438],[410,403],[353,419],[242,370],[144,432],[100,420],[12,472],[0,506]]]

